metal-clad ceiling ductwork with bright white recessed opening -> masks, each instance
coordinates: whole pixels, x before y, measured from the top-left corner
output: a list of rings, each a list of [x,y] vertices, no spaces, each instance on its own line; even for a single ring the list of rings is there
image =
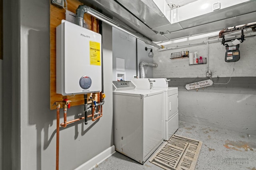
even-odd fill
[[[153,42],[169,41],[256,21],[256,0],[218,0],[221,7],[218,10],[212,9],[216,0],[208,0],[210,5],[206,9],[199,9],[205,0],[166,0],[173,12],[172,16],[171,12],[164,16],[154,0],[79,1]],[[174,20],[172,18],[175,12],[178,17]]]

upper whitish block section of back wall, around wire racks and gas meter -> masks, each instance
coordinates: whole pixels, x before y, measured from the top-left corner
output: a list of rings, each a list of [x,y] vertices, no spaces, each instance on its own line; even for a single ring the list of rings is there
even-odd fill
[[[199,39],[197,41],[206,41]],[[193,43],[186,41],[184,44]],[[169,45],[174,47],[175,45]],[[255,37],[246,37],[246,41],[240,44],[240,60],[233,63],[225,62],[225,46],[220,42],[208,44],[208,69],[212,71],[212,77],[246,77],[256,76],[256,44]],[[168,47],[168,45],[166,45]],[[154,50],[154,63],[158,64],[157,68],[153,68],[154,78],[160,77],[206,77],[207,64],[189,65],[189,59],[170,59],[171,53],[180,51],[195,52],[198,51],[198,56],[207,57],[207,44],[197,45],[192,47],[183,47],[173,50],[158,51]],[[234,70],[234,72],[233,72]],[[232,75],[231,75],[232,74]]]

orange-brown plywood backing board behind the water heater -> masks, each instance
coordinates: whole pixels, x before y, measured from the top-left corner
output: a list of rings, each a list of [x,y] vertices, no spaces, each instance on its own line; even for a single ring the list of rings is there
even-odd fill
[[[77,0],[67,0],[68,11],[76,13],[76,9],[79,5],[83,5]],[[56,94],[56,27],[60,25],[61,20],[65,20],[66,10],[60,9],[50,4],[50,109],[56,109],[56,106],[52,106],[54,102],[62,101],[64,96]],[[98,21],[96,18],[84,14],[84,20],[87,23],[87,28],[98,32]],[[92,28],[93,26],[93,28]],[[90,94],[88,94],[90,96]],[[71,100],[70,106],[77,106],[84,104],[84,95],[79,94],[75,96],[67,96],[68,100]]]

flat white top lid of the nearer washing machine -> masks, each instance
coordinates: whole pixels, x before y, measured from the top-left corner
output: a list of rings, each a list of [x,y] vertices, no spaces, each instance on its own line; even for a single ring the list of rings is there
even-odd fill
[[[162,90],[144,90],[144,89],[134,89],[134,90],[122,90],[122,91],[116,91],[113,92],[113,94],[118,95],[124,95],[124,96],[134,96],[134,97],[140,97],[145,98],[148,96],[153,96],[156,94],[162,94]]]

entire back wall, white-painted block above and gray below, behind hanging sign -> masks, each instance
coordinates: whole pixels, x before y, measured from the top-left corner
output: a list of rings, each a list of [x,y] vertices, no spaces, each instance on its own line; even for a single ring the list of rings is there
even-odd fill
[[[213,37],[216,38],[216,37]],[[170,59],[170,54],[188,49],[207,56],[207,45],[197,45],[174,50],[156,51],[154,78],[170,78],[169,86],[178,87],[179,119],[222,129],[256,134],[256,37],[246,37],[240,44],[240,60],[224,61],[225,47],[209,43],[208,68],[212,71],[214,84],[197,90],[186,90],[185,85],[206,80],[207,64],[188,65],[189,59]],[[182,43],[170,43],[166,47],[204,41],[196,39]],[[234,72],[233,72],[234,70]]]

